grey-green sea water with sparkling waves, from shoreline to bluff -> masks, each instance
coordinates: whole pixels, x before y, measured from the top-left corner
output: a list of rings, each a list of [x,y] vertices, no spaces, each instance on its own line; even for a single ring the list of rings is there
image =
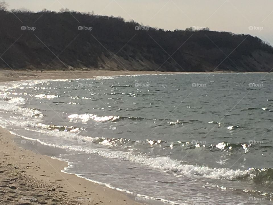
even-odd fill
[[[64,171],[166,204],[272,204],[271,73],[0,85],[0,125]],[[34,141],[33,141],[34,140]],[[39,150],[36,150],[39,151]]]

